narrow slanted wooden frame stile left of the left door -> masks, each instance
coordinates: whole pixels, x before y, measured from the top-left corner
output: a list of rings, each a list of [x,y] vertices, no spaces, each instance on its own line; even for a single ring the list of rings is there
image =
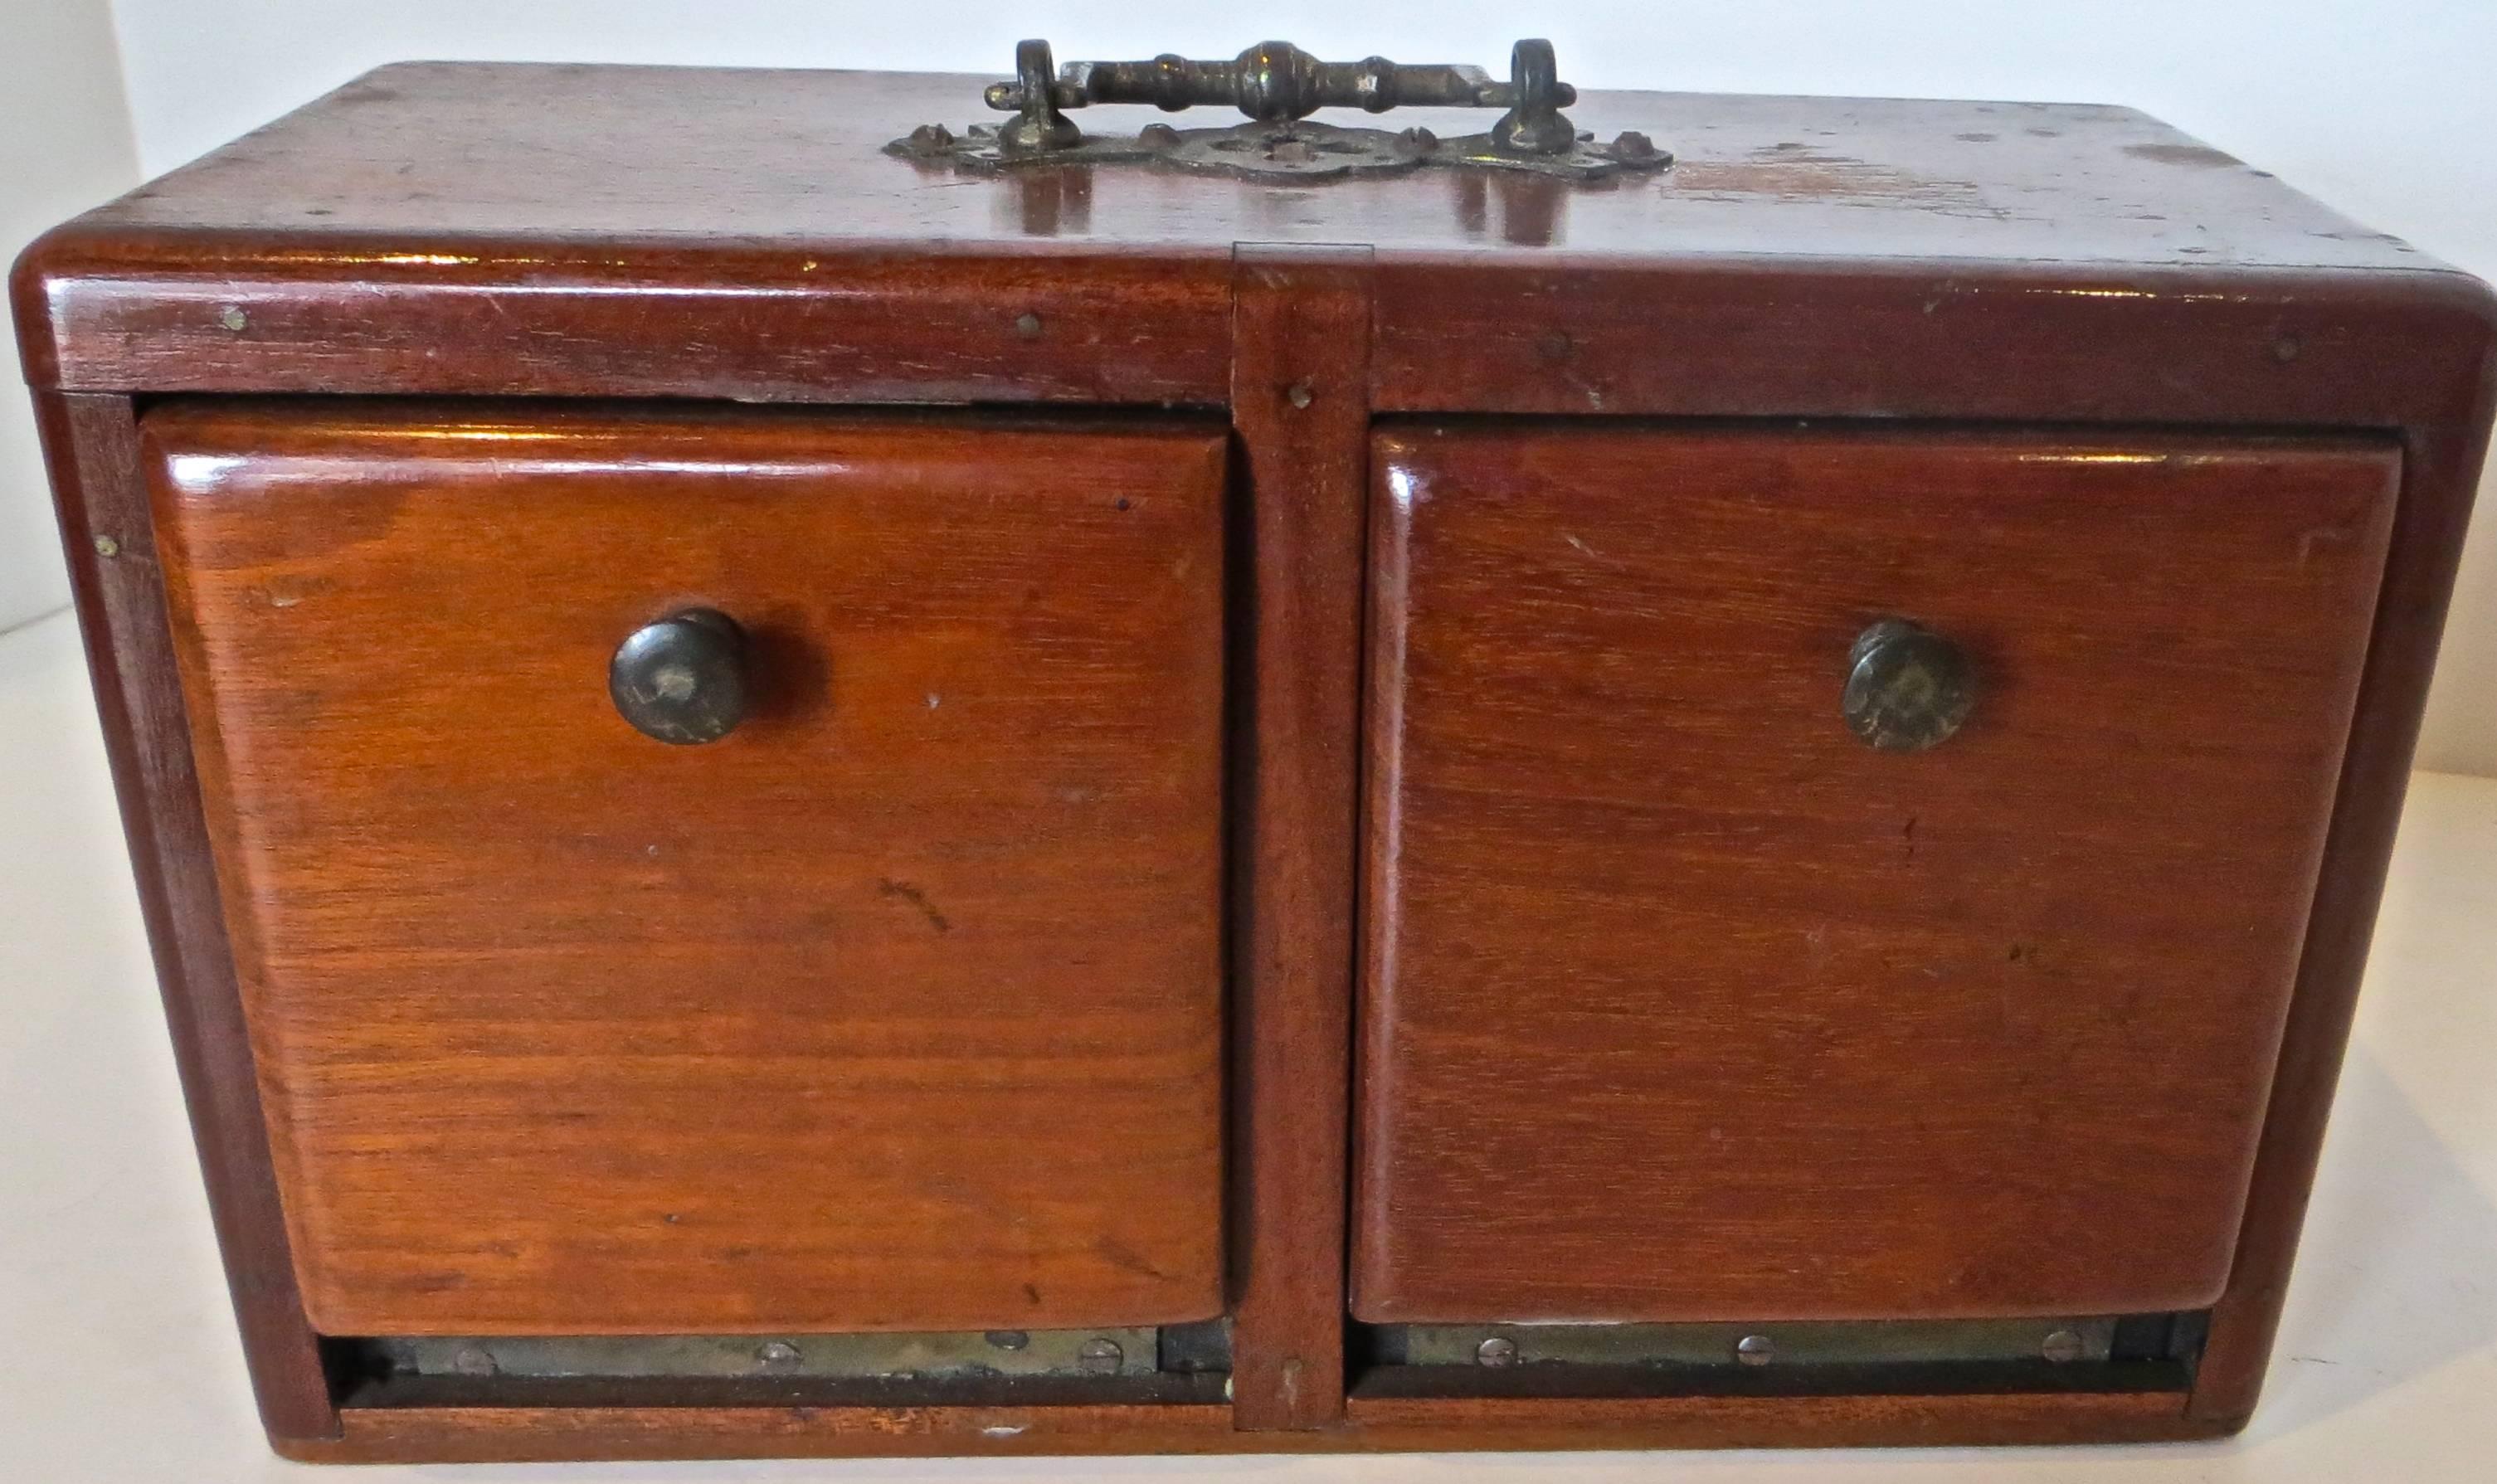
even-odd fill
[[[270,1164],[250,1032],[235,987],[190,725],[175,672],[140,432],[125,397],[35,395],[60,535],[102,712],[140,919],[175,1072],[207,1182],[217,1252],[260,1422],[285,1447],[337,1437]],[[100,542],[110,542],[105,557]]]

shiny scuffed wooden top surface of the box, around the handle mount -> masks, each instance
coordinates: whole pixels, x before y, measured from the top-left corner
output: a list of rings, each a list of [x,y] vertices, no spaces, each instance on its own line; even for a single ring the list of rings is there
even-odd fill
[[[921,122],[999,122],[984,77],[405,62],[185,165],[80,222],[272,262],[337,242],[946,245],[1224,252],[1356,242],[1381,260],[1803,255],[2102,267],[2442,267],[2125,107],[1588,92],[1568,112],[1678,162],[1618,185],[1523,172],[1248,182],[1154,165],[964,175],[886,155]],[[1134,132],[1149,107],[1071,115]],[[1486,110],[1396,110],[1441,135]],[[1191,110],[1189,127],[1239,122]],[[422,262],[390,267],[422,270]]]

